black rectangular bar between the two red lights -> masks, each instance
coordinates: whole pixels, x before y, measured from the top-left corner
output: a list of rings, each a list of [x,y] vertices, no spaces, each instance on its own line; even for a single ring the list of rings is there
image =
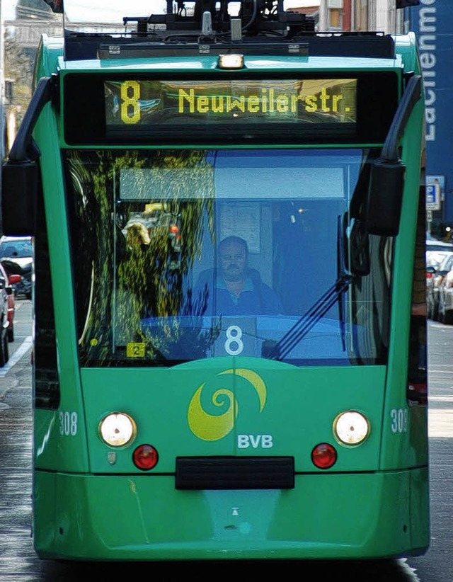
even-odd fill
[[[294,489],[294,457],[176,457],[176,489]]]

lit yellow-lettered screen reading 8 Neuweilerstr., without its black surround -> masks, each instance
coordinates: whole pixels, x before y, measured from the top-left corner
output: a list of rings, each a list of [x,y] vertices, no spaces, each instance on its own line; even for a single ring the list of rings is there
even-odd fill
[[[357,79],[106,81],[111,125],[355,123]]]

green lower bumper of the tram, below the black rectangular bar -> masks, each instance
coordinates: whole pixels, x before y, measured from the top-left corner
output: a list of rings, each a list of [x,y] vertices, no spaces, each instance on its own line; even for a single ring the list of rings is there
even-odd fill
[[[428,548],[428,469],[299,474],[294,489],[180,491],[173,476],[37,471],[42,558],[373,559]]]

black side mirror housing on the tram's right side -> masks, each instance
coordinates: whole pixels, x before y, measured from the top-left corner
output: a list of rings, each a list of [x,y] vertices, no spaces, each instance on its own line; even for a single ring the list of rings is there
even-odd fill
[[[365,204],[365,225],[369,234],[398,234],[405,172],[406,166],[399,161],[374,161]]]

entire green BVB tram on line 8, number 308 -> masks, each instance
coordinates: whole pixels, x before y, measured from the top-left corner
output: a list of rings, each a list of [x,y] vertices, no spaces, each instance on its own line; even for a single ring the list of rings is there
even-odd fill
[[[281,0],[93,32],[74,4],[2,174],[4,233],[35,241],[38,556],[423,554],[413,33]]]

